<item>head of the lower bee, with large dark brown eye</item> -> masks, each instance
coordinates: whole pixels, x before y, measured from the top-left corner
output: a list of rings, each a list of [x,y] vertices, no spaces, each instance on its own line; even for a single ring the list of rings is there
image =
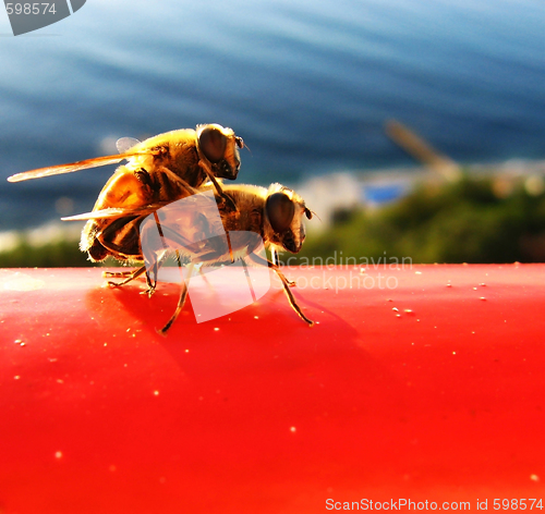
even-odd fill
[[[272,184],[265,201],[265,230],[268,240],[283,249],[296,254],[305,240],[303,215],[308,219],[312,212],[301,196],[280,184]]]

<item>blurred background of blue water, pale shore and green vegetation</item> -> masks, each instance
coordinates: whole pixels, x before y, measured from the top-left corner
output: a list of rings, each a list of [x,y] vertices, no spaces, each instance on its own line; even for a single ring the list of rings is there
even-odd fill
[[[13,37],[0,7],[0,267],[88,265],[58,220],[114,167],[9,175],[211,122],[240,182],[319,216],[302,257],[545,260],[544,26],[542,0],[87,0]]]

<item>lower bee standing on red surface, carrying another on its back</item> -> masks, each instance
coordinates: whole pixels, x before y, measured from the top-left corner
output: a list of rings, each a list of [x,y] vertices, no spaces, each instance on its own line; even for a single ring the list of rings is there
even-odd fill
[[[191,195],[207,193],[211,188],[211,184],[205,184],[199,189],[192,191]],[[142,229],[141,232],[145,232],[143,223],[145,219],[150,219],[153,224],[157,225],[160,243],[152,245],[153,248],[144,244],[138,246],[137,250],[133,245],[120,248],[132,260],[145,260],[146,264],[133,271],[108,273],[110,278],[124,279],[121,282],[109,282],[111,286],[124,285],[145,274],[147,293],[150,296],[157,286],[158,269],[169,249],[175,252],[179,264],[184,257],[189,259],[187,280],[191,280],[194,265],[220,265],[249,257],[256,265],[272,268],[282,282],[291,307],[312,327],[314,321],[305,316],[290,290],[294,283],[288,281],[278,264],[264,259],[255,253],[255,248],[263,242],[272,254],[282,250],[299,253],[305,240],[303,217],[312,219],[313,212],[305,206],[301,196],[280,184],[271,184],[268,189],[246,184],[225,185],[223,191],[232,199],[233,205],[228,203],[216,205],[214,201],[216,212],[219,211],[219,217],[216,218],[203,207],[177,209],[178,201],[175,201],[157,203],[133,209],[104,209],[64,219],[100,218],[111,219],[114,222],[117,219],[131,218],[134,225]],[[187,195],[182,195],[180,199],[186,197]],[[217,234],[220,233],[225,233],[226,236],[218,237]],[[238,234],[255,236],[237,236]],[[175,311],[159,331],[160,333],[165,334],[178,318],[184,307],[186,295],[187,284],[182,280],[182,291]]]

